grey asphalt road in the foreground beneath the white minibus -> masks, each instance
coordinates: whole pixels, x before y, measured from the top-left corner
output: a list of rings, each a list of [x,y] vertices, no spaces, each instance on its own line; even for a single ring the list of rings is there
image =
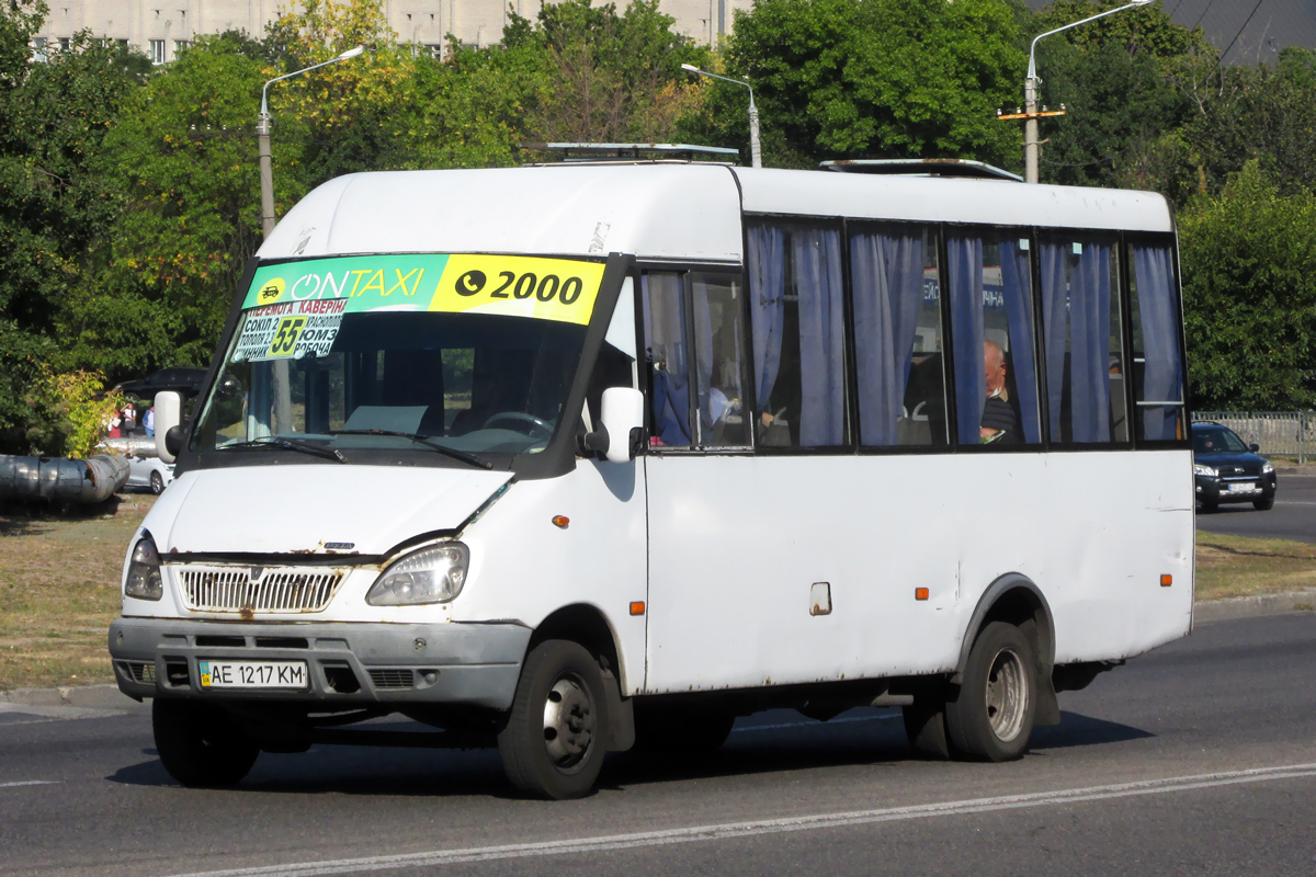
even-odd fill
[[[491,752],[334,747],[188,790],[146,711],[7,707],[0,873],[1316,873],[1316,614],[1202,625],[1061,706],[1011,764],[915,760],[890,710],[765,714],[574,802]]]

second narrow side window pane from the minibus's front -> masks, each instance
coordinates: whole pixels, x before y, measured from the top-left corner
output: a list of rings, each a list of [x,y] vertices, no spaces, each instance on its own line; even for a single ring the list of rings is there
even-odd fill
[[[741,400],[745,373],[745,291],[733,275],[691,275],[695,317],[695,379],[700,447],[749,446]]]

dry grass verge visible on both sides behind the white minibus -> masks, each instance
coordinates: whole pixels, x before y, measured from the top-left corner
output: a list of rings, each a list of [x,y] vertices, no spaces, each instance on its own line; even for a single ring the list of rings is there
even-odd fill
[[[0,690],[114,681],[107,632],[124,554],[154,502],[129,494],[63,515],[0,508]],[[1307,588],[1316,544],[1198,533],[1198,600]]]

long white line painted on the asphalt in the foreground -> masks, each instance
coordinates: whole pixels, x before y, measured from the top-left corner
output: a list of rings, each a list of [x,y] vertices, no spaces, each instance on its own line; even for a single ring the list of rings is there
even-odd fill
[[[1316,777],[1316,764],[1291,764],[1250,770],[1228,770],[1221,773],[1202,773],[1162,780],[1141,780],[1104,786],[1063,789],[1059,792],[1034,792],[1029,794],[999,795],[995,798],[971,798],[967,801],[946,801],[942,803],[923,803],[907,807],[882,807],[878,810],[855,810],[850,813],[826,813],[808,817],[788,817],[784,819],[757,819],[753,822],[732,822],[716,826],[696,826],[690,828],[669,828],[666,831],[645,831],[624,835],[603,835],[599,838],[579,838],[574,840],[546,840],[528,844],[507,844],[500,847],[468,847],[465,849],[436,849],[432,852],[403,853],[395,856],[368,856],[365,859],[337,859],[332,861],[293,863],[286,865],[266,865],[257,868],[234,868],[232,870],[211,870],[175,877],[262,877],[280,874],[286,877],[320,877],[322,874],[343,874],[365,870],[392,870],[396,868],[426,868],[451,865],[466,861],[491,861],[499,859],[529,859],[533,856],[562,856],[611,849],[634,849],[638,847],[659,847],[665,844],[726,840],[729,838],[750,838],[754,835],[783,834],[787,831],[811,831],[815,828],[837,828],[844,826],[865,826],[901,819],[924,819],[934,817],[955,817],[974,813],[1016,810],[1021,807],[1041,807],[1048,805],[1071,805],[1084,801],[1105,801],[1109,798],[1132,798],[1145,794],[1165,794],[1212,789],[1242,782],[1266,782],[1270,780],[1291,780]]]

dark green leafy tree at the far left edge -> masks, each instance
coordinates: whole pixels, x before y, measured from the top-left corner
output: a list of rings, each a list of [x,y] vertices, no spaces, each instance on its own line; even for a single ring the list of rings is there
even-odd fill
[[[34,60],[43,4],[8,0],[0,16],[0,451],[26,451],[28,392],[67,364],[61,321],[96,271],[118,200],[96,162],[118,108],[149,62],[87,33]]]

